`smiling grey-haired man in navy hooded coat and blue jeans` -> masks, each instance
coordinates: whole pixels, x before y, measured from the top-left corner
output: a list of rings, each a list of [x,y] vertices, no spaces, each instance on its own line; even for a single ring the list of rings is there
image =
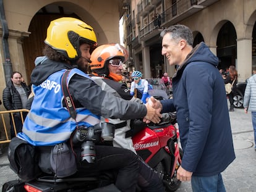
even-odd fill
[[[192,31],[174,25],[161,32],[162,54],[179,65],[173,77],[173,99],[151,105],[177,111],[184,150],[177,178],[191,180],[193,191],[225,191],[221,172],[235,159],[228,104],[218,58],[205,43],[194,49]]]

